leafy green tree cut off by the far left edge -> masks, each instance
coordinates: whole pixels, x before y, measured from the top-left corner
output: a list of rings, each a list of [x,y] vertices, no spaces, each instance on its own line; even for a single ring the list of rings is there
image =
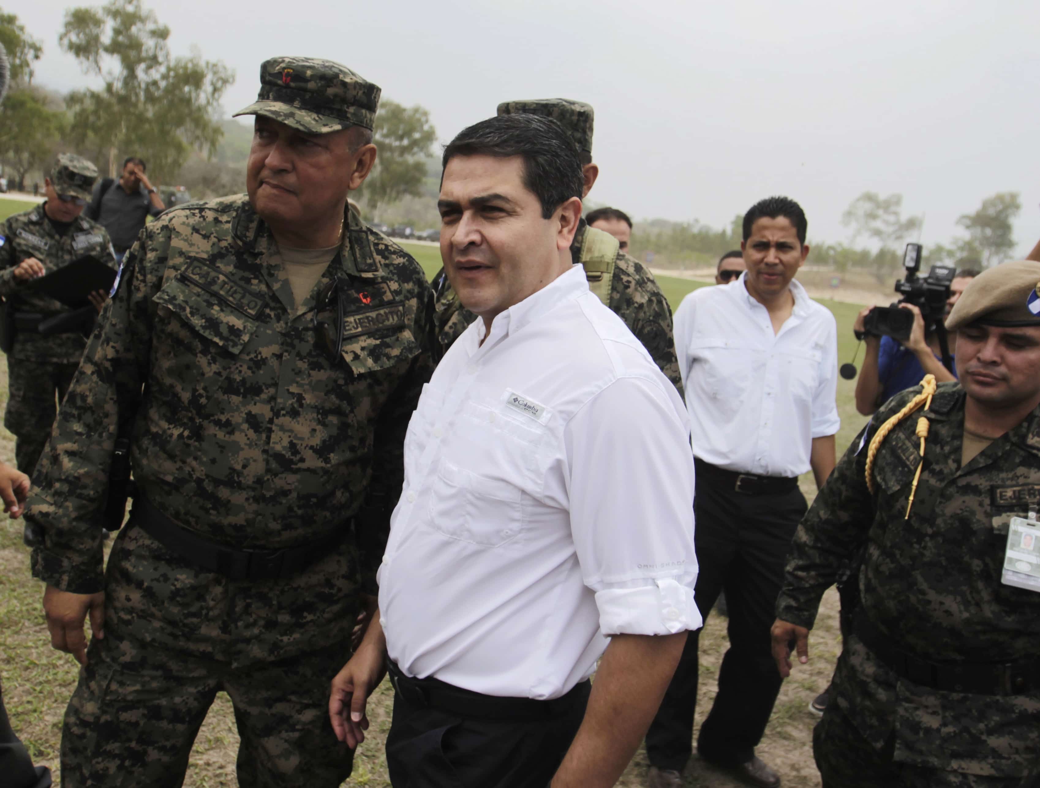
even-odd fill
[[[44,48],[14,14],[0,11],[0,44],[10,62],[9,90],[0,110],[0,160],[21,190],[26,175],[47,166],[53,156],[62,115],[51,109],[44,91],[31,84],[32,65],[43,56]]]

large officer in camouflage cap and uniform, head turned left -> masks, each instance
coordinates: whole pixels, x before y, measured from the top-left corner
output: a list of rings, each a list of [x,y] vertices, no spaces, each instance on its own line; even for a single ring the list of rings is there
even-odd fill
[[[69,788],[180,786],[216,692],[241,786],[332,788],[326,714],[359,588],[374,593],[433,292],[348,210],[380,88],[329,60],[260,69],[248,194],[166,211],[128,252],[29,504],[55,648],[83,662]],[[104,576],[118,435],[138,492]],[[84,654],[83,622],[94,637]]]

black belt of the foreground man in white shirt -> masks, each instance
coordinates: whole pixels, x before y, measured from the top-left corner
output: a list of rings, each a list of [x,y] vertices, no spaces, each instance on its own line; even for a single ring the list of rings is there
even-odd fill
[[[413,679],[402,674],[392,659],[387,659],[387,672],[397,697],[409,706],[437,709],[460,717],[517,723],[562,717],[573,710],[575,704],[587,701],[592,687],[592,682],[586,679],[565,695],[536,701],[534,698],[486,695],[439,679]]]

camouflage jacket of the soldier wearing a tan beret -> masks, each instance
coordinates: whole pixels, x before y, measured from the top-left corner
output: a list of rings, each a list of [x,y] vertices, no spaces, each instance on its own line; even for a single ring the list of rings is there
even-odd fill
[[[881,444],[875,493],[864,479],[878,428],[920,390],[886,403],[853,442],[799,526],[778,618],[811,627],[824,592],[865,548],[865,614],[892,646],[931,662],[1014,662],[1040,654],[1040,594],[1000,583],[1008,525],[1040,499],[1040,409],[961,467],[965,394],[941,384],[927,412],[925,465],[918,410]],[[846,643],[832,702],[894,759],[979,776],[1019,777],[1040,752],[1040,692],[1011,697],[930,689],[882,663],[858,637]]]

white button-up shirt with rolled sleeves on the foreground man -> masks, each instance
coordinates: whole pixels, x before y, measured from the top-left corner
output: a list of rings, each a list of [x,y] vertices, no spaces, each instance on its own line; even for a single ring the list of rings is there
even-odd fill
[[[408,426],[387,651],[408,676],[558,698],[607,635],[701,626],[685,409],[581,266],[484,338],[454,342]]]

